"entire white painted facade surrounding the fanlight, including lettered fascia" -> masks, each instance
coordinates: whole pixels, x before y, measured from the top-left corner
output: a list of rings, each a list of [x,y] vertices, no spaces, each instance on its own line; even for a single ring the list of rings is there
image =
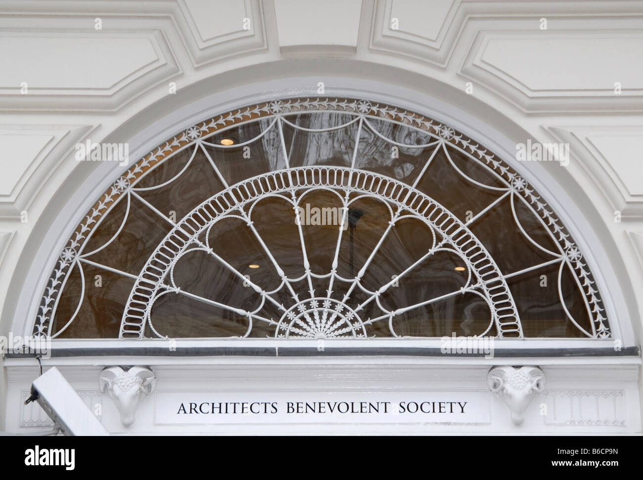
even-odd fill
[[[2,2],[0,335],[31,335],[69,236],[127,168],[75,161],[77,143],[129,143],[133,164],[251,103],[368,98],[448,123],[520,172],[583,251],[612,338],[498,339],[511,353],[493,359],[440,355],[439,339],[374,341],[377,353],[336,350],[363,346],[354,341],[321,352],[312,341],[178,339],[168,351],[162,340],[60,339],[43,371],[57,366],[112,434],[640,435],[642,14],[634,1]],[[570,163],[516,161],[526,139],[569,143]],[[221,353],[239,348],[248,350]],[[99,378],[132,366],[149,369],[154,388],[137,387],[124,425]],[[538,367],[544,382],[507,401],[512,393],[490,388],[489,372],[520,366]],[[0,431],[52,431],[41,407],[24,405],[37,360],[1,367]],[[213,402],[255,411],[275,402],[278,413],[179,413],[190,402],[210,411]],[[288,413],[288,402],[391,410]],[[438,413],[394,411],[400,402],[430,402],[424,409]],[[440,402],[466,402],[466,413],[440,412]]]

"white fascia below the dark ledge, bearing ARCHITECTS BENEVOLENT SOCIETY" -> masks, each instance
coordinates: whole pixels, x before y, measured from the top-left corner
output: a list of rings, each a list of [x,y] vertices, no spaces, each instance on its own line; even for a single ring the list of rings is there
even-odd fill
[[[113,358],[100,359],[100,362],[110,360]],[[140,358],[129,357],[128,361],[132,360]],[[15,360],[8,362],[17,363]],[[102,366],[95,365],[96,359],[87,367],[71,363],[69,359],[57,362],[61,373],[86,404],[91,404],[91,409],[102,405],[100,420],[113,434],[350,434],[358,429],[370,433],[586,435],[636,434],[640,429],[636,364],[590,366],[565,362],[565,365],[544,365],[547,385],[530,402],[525,421],[516,425],[505,403],[489,391],[487,372],[493,365],[485,362],[444,365],[444,362],[404,357],[379,358],[368,360],[368,363],[355,357],[280,361],[192,358],[181,365],[150,367],[156,373],[157,390],[141,400],[134,423],[126,427],[120,421],[116,405],[98,390],[97,378]],[[13,402],[17,410],[16,415],[7,419],[8,431],[45,431],[52,427],[46,416],[38,413],[38,405],[21,406],[30,385],[26,378],[33,375],[37,375],[37,368],[10,368],[8,402]],[[464,415],[412,414],[399,407],[396,413],[393,409],[399,402],[408,405],[409,402],[440,401],[469,403]],[[217,405],[219,402],[274,402],[278,412],[271,413],[273,410],[269,406],[269,413],[264,414],[264,407],[255,404],[253,408],[258,414],[248,411],[233,414],[231,405],[228,414],[190,414],[189,402],[194,402],[204,412],[207,409],[212,412],[212,402]],[[287,402],[390,402],[390,407],[387,413],[380,414],[349,411],[333,415],[329,407],[321,414],[310,411],[295,414],[287,413]],[[179,414],[181,403],[185,404],[186,414],[182,411]],[[430,405],[424,407],[431,409]],[[359,404],[353,405],[354,411],[359,408]],[[445,411],[448,408],[448,404],[444,405]],[[459,410],[456,406],[455,411]]]

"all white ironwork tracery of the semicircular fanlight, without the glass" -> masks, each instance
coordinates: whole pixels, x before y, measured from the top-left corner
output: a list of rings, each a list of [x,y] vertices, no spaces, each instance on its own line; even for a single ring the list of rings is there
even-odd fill
[[[287,116],[291,114],[319,111],[340,111],[345,114],[350,114],[354,116],[354,118],[352,118],[349,123],[324,129],[304,129],[303,127],[299,127],[295,123],[289,121],[287,118]],[[246,179],[245,181],[239,182],[239,184],[229,186],[224,179],[224,176],[219,171],[219,168],[217,168],[217,164],[213,161],[212,157],[209,156],[204,146],[207,145],[208,147],[221,149],[233,148],[226,147],[224,145],[216,145],[215,143],[208,143],[207,139],[213,134],[219,132],[222,127],[238,126],[244,122],[256,121],[258,118],[261,118],[262,120],[271,119],[271,122],[257,137],[244,143],[234,145],[233,147],[239,148],[265,138],[266,133],[273,131],[273,127],[276,125],[278,130],[278,138],[276,141],[281,144],[282,152],[284,153],[285,168],[282,170],[267,172],[262,175],[258,175],[257,177]],[[385,138],[385,136],[378,132],[377,128],[371,124],[372,120],[383,119],[392,123],[402,124],[410,129],[417,129],[419,132],[422,132],[422,134],[430,136],[433,141],[422,145],[407,145],[390,138]],[[323,132],[347,127],[347,125],[352,125],[354,123],[358,124],[358,132],[350,167],[308,166],[293,168],[290,166],[287,156],[287,148],[284,141],[284,125],[289,125],[294,129],[309,132]],[[412,185],[407,185],[389,177],[384,177],[377,173],[366,172],[356,168],[355,160],[358,152],[360,132],[366,126],[368,126],[370,131],[376,134],[379,138],[382,138],[391,145],[396,145],[397,147],[406,149],[435,147],[433,154],[426,161],[424,167]],[[489,186],[467,177],[467,175],[462,172],[449,157],[449,152],[446,148],[447,143],[449,147],[457,148],[458,151],[466,154],[466,156],[471,158],[472,161],[476,161],[478,164],[485,166],[489,172],[493,172],[495,177],[502,182],[503,187],[499,188],[496,186]],[[157,186],[148,188],[136,187],[138,180],[141,177],[144,177],[145,173],[150,171],[152,166],[172,156],[172,154],[177,150],[183,150],[188,147],[194,148],[192,157],[190,158],[190,161],[186,163],[185,168],[183,168],[181,172],[177,173],[175,177]],[[431,159],[433,159],[433,156],[435,156],[440,148],[448,157],[453,169],[459,175],[462,175],[466,181],[476,184],[482,188],[503,192],[498,199],[480,209],[480,211],[478,211],[478,213],[476,213],[476,215],[467,222],[461,222],[447,209],[437,204],[435,200],[415,189],[417,182],[419,182],[422,175],[430,165]],[[225,190],[217,193],[217,195],[214,195],[212,198],[205,200],[190,214],[186,215],[185,218],[175,223],[150,204],[150,202],[147,202],[147,200],[141,197],[139,192],[152,190],[170,184],[174,179],[179,177],[186,168],[188,168],[197,151],[203,152],[208,157],[208,161],[212,164],[212,168],[216,172],[217,177],[224,184]],[[303,267],[305,270],[305,274],[300,278],[287,278],[284,271],[278,265],[278,262],[276,262],[274,256],[270,253],[267,245],[262,241],[257,229],[253,226],[251,215],[255,204],[257,204],[259,200],[265,199],[269,196],[278,195],[281,199],[289,201],[293,205],[293,208],[297,208],[303,195],[314,190],[327,190],[338,195],[338,198],[343,203],[342,222],[346,222],[350,202],[355,200],[350,198],[352,193],[357,193],[358,195],[361,195],[361,197],[371,197],[373,199],[381,200],[385,202],[390,211],[391,218],[385,234],[369,256],[367,263],[363,265],[355,278],[342,278],[337,273],[338,251],[342,235],[341,226],[338,228],[338,244],[334,262],[332,263],[332,270],[327,274],[321,275],[312,273],[309,265],[307,264],[306,245],[302,236],[302,228],[301,226],[298,226],[298,233],[300,236],[298,242],[302,249],[304,262]],[[303,193],[298,193],[300,191],[303,191]],[[111,242],[113,242],[113,240],[118,236],[123,225],[125,225],[125,220],[129,214],[129,204],[132,197],[143,202],[143,204],[147,205],[152,211],[154,211],[161,220],[169,222],[172,226],[170,233],[168,233],[165,240],[158,245],[143,268],[143,271],[141,271],[138,276],[133,276],[126,272],[119,271],[118,269],[89,260],[89,257],[92,254],[111,244]],[[467,226],[483,217],[485,213],[494,207],[494,205],[507,197],[511,200],[514,221],[521,233],[523,233],[531,244],[550,255],[552,259],[548,262],[534,265],[528,269],[503,274],[503,272],[498,269],[493,258],[491,258],[487,253],[484,246],[475,238],[471,231],[469,231]],[[100,224],[105,213],[113,208],[113,206],[119,201],[127,201],[127,211],[120,229],[118,229],[114,236],[107,243],[102,245],[102,247],[89,253],[85,253],[84,246],[87,244],[87,240],[89,240],[93,231]],[[556,252],[546,249],[530,238],[525,229],[521,226],[518,216],[516,215],[515,202],[517,201],[523,202],[523,204],[529,207],[534,215],[539,218],[543,227],[547,229],[547,232],[556,241],[559,251]],[[408,211],[412,213],[410,215],[408,213],[403,213]],[[396,310],[387,310],[379,302],[379,296],[388,289],[388,287],[390,287],[392,281],[382,285],[380,289],[368,290],[361,285],[360,279],[368,268],[368,263],[376,254],[377,248],[381,245],[385,236],[388,234],[390,229],[395,227],[395,222],[406,217],[421,218],[421,220],[431,228],[433,244],[427,249],[426,256],[424,256],[422,260],[426,260],[426,258],[435,254],[437,251],[449,251],[457,254],[466,264],[467,281],[464,287],[452,292],[451,294],[426,299],[426,301],[423,301],[421,304],[408,305],[397,308]],[[230,305],[219,303],[214,299],[195,296],[190,292],[181,290],[180,287],[176,285],[173,278],[174,267],[176,267],[177,262],[179,262],[185,254],[194,251],[203,251],[213,256],[213,258],[218,262],[221,262],[222,265],[233,271],[235,275],[241,278],[244,277],[241,272],[236,271],[231,267],[230,263],[217,255],[213,251],[212,247],[208,245],[209,235],[205,235],[205,242],[202,242],[198,238],[200,233],[203,231],[207,231],[209,233],[210,229],[212,229],[217,222],[226,220],[226,218],[239,218],[246,222],[248,228],[253,232],[253,235],[255,235],[258,242],[264,248],[267,258],[270,259],[276,272],[278,272],[279,276],[282,278],[282,283],[277,290],[288,290],[291,298],[293,299],[293,305],[282,305],[272,296],[277,290],[266,291],[262,289],[260,285],[256,285],[250,281],[248,281],[249,285],[261,298],[259,307],[251,311],[231,307]],[[495,324],[497,335],[500,337],[514,333],[517,336],[522,337],[523,331],[520,323],[520,314],[518,312],[518,308],[516,308],[514,300],[512,299],[511,292],[509,292],[505,280],[527,271],[554,264],[559,264],[559,296],[561,299],[561,305],[565,310],[568,319],[588,337],[608,337],[610,335],[606,325],[606,318],[602,314],[598,292],[593,287],[594,282],[590,277],[590,272],[588,272],[586,265],[582,262],[582,255],[578,247],[572,242],[569,234],[566,233],[564,228],[559,224],[559,221],[552,216],[552,212],[548,210],[547,205],[534,194],[534,191],[524,179],[514,173],[511,168],[507,167],[500,160],[496,159],[492,154],[489,154],[489,152],[480,148],[478,145],[474,145],[471,140],[461,134],[458,134],[448,125],[436,124],[433,121],[417,114],[398,111],[394,107],[373,105],[366,100],[306,99],[289,100],[287,102],[275,100],[267,104],[255,105],[254,107],[248,107],[244,110],[231,112],[230,114],[219,116],[211,121],[199,123],[194,127],[190,127],[185,132],[172,139],[172,141],[169,141],[165,143],[164,146],[159,147],[156,152],[153,152],[149,156],[141,159],[141,161],[132,166],[122,175],[122,177],[119,177],[114,182],[111,189],[104,194],[104,197],[96,204],[95,208],[92,209],[89,215],[87,215],[86,220],[78,227],[75,235],[72,236],[69,245],[62,251],[59,264],[52,274],[50,284],[46,288],[39,316],[35,323],[35,335],[50,334],[55,337],[64,332],[69,324],[73,322],[83,301],[83,263],[101,267],[107,271],[122,274],[123,276],[129,276],[136,280],[134,288],[129,296],[129,300],[127,301],[127,305],[125,305],[123,311],[120,328],[120,337],[122,338],[143,337],[146,323],[149,325],[152,332],[158,335],[158,337],[163,337],[161,333],[155,330],[152,318],[150,317],[150,311],[154,302],[161,296],[165,296],[167,294],[188,296],[246,317],[248,319],[248,328],[244,336],[247,336],[251,332],[254,321],[262,321],[275,327],[276,337],[302,336],[321,338],[368,336],[368,325],[377,321],[388,321],[391,334],[393,336],[397,336],[393,326],[393,319],[396,315],[403,314],[404,312],[412,308],[420,307],[421,305],[427,305],[429,303],[439,301],[440,299],[448,298],[449,296],[462,295],[465,292],[472,293],[483,298],[489,306],[489,326],[484,330],[484,332],[479,332],[478,335],[485,335],[489,332],[491,326]],[[404,274],[408,273],[408,271],[419,263],[420,261],[416,262],[412,267],[409,267],[405,271],[399,272],[397,278],[404,276]],[[57,332],[51,332],[51,317],[53,317],[53,314],[56,311],[57,303],[60,298],[59,292],[64,288],[65,282],[68,278],[68,273],[71,271],[71,267],[73,266],[78,268],[82,279],[81,298],[78,302],[78,307],[75,310],[75,313],[71,318],[69,318],[66,324],[61,328],[58,328]],[[568,267],[570,271],[575,273],[577,285],[584,294],[586,308],[590,318],[592,318],[591,331],[580,326],[566,308],[565,299],[563,298],[563,292],[561,290],[561,276],[565,267]],[[311,283],[312,278],[326,278],[329,280],[329,286],[325,292],[325,296],[320,296],[319,292],[314,292]],[[307,281],[309,290],[307,292],[295,291],[294,284],[302,280]],[[342,299],[331,297],[333,285],[338,281],[348,282],[350,285],[349,291]],[[350,292],[356,288],[361,289],[369,296],[369,302],[374,301],[377,303],[378,307],[382,311],[381,316],[361,319],[359,312],[363,308],[363,305],[347,305],[347,301],[350,298]],[[303,298],[301,298],[302,296]],[[273,319],[260,316],[258,312],[260,312],[262,306],[266,302],[273,303],[273,305],[282,312],[282,317],[279,319]]]

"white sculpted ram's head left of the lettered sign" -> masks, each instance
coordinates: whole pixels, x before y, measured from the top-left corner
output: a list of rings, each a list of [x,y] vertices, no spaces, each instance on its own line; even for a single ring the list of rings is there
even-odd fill
[[[98,377],[100,391],[114,401],[125,427],[134,423],[136,407],[156,387],[156,375],[149,367],[107,367]]]

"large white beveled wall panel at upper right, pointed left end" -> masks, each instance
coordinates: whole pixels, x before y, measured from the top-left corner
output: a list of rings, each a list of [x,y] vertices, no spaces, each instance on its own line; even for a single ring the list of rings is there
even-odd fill
[[[571,25],[562,19],[548,18],[556,30],[551,26],[547,31],[539,30],[536,16],[515,19],[511,24],[505,19],[503,27],[495,30],[488,21],[468,22],[462,37],[471,36],[473,41],[460,75],[525,112],[640,111],[643,67],[637,45],[643,46],[643,19],[637,30],[628,30],[633,19],[619,22],[592,17],[570,30]],[[591,42],[597,42],[596,46]],[[592,48],[596,57],[592,62],[582,55],[587,48]],[[614,51],[619,51],[618,57]],[[603,66],[600,74],[595,70],[597,64]],[[615,94],[616,82],[621,85],[620,94]]]

